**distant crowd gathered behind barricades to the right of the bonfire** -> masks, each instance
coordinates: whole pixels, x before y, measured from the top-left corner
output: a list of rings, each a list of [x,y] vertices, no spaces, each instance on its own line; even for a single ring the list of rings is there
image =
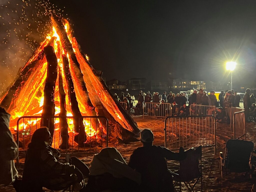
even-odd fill
[[[254,94],[250,93],[251,90],[247,89],[243,99],[246,121],[255,121],[255,98]],[[170,115],[167,112],[168,110],[170,110],[172,116],[212,115],[215,112],[217,122],[227,124],[230,124],[231,107],[240,107],[241,99],[238,92],[233,89],[221,91],[218,98],[215,95],[215,91],[211,91],[210,94],[207,94],[203,89],[200,89],[199,91],[194,90],[190,95],[186,92],[177,93],[175,95],[175,93],[172,92],[167,94],[166,91],[164,91],[163,94],[159,94],[158,92],[153,92],[153,94],[151,94],[150,91],[147,93],[140,91],[136,98],[138,101],[136,106],[134,106],[134,95],[131,96],[128,93],[124,96],[124,93],[122,92],[120,98],[116,93],[114,94],[114,97],[116,100],[126,103],[128,112],[130,112],[132,108],[137,108],[139,113],[151,112],[152,114],[156,114],[156,111],[159,111],[161,116]],[[155,105],[149,105],[148,103],[154,103]],[[170,109],[167,109],[167,106],[164,106],[165,109],[163,109],[161,103],[170,103]],[[191,104],[192,106],[190,107]],[[193,105],[202,105],[202,107],[196,108]],[[214,108],[207,106],[214,106]],[[146,111],[143,111],[143,107],[146,108]]]

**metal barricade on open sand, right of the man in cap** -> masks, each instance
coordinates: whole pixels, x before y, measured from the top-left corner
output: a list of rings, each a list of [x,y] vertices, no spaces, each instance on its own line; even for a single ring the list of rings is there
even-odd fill
[[[216,119],[213,115],[169,116],[165,119],[165,147],[214,147],[216,154]]]

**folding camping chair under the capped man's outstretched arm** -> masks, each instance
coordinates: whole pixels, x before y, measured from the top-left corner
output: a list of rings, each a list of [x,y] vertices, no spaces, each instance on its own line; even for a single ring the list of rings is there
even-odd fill
[[[181,191],[181,183],[184,183],[189,192],[193,191],[195,185],[201,178],[201,191],[202,191],[202,146],[198,148],[190,148],[185,151],[186,158],[180,161],[179,170],[173,175],[174,186],[179,183],[179,191]],[[200,170],[199,170],[200,162]],[[194,182],[191,186],[191,182]]]

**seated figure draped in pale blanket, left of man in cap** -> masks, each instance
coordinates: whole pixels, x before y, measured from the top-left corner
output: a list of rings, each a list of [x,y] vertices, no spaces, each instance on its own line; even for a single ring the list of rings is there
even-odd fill
[[[137,191],[141,183],[141,174],[127,166],[122,155],[114,147],[103,148],[93,155],[89,167],[88,192]]]

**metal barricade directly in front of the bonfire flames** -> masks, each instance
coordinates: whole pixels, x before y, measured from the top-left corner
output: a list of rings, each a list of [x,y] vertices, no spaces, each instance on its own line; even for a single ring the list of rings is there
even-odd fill
[[[19,143],[22,144],[22,150],[19,148],[19,155],[26,154],[27,146],[35,130],[40,127],[41,119],[48,122],[48,127],[50,120],[54,120],[52,147],[58,148],[61,154],[97,153],[98,148],[108,147],[109,122],[104,116],[22,116],[17,120],[15,130],[18,147]],[[74,120],[83,122],[85,127],[84,140],[86,142],[83,144],[74,142],[74,137],[80,132],[81,127],[78,124],[78,133],[75,132]],[[19,141],[20,139],[22,140]]]

